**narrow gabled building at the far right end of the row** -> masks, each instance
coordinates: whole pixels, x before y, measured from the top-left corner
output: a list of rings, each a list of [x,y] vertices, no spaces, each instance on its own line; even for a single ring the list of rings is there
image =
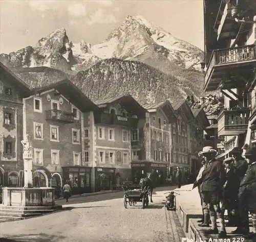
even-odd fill
[[[202,151],[204,147],[204,130],[210,125],[208,118],[203,110],[191,109],[194,119],[189,124],[190,131],[190,171],[192,174],[197,174],[201,167],[201,160],[198,157],[198,153]]]

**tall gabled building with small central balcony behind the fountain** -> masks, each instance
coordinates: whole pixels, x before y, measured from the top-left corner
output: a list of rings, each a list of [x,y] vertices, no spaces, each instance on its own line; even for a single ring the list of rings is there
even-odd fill
[[[83,113],[97,108],[69,80],[34,88],[23,99],[20,123],[23,136],[29,134],[32,139],[33,170],[38,177],[34,186],[62,185],[69,180],[73,192],[91,191],[92,171],[85,165]]]

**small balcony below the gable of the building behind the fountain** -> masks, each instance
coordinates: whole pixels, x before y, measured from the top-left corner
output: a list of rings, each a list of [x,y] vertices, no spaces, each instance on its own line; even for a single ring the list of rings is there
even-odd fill
[[[54,120],[60,123],[72,124],[74,123],[74,114],[70,112],[65,112],[62,110],[47,110],[46,120]]]

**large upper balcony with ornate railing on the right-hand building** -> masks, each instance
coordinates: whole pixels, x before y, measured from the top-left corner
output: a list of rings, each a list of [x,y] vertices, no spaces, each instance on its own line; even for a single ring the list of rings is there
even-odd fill
[[[237,75],[248,80],[255,64],[255,45],[214,50],[204,75],[204,91],[217,90],[224,78],[223,89],[243,87]]]

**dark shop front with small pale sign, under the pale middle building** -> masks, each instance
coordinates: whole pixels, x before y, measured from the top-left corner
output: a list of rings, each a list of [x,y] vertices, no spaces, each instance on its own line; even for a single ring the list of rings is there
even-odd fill
[[[96,191],[110,190],[116,183],[115,168],[95,168]]]

